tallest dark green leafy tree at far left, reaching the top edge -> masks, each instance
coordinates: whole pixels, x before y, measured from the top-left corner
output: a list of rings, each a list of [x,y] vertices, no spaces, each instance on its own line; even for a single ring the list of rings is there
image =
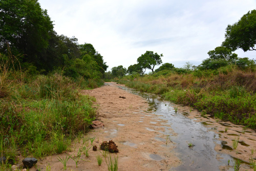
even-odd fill
[[[53,24],[37,0],[0,1],[0,52],[25,54],[23,62],[38,66],[46,60]]]

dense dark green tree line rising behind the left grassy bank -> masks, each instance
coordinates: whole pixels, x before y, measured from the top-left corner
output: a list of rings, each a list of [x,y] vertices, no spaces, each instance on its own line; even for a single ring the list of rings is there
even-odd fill
[[[102,78],[108,68],[93,45],[58,35],[37,0],[0,1],[0,53],[16,56],[30,74],[61,70],[73,78]]]

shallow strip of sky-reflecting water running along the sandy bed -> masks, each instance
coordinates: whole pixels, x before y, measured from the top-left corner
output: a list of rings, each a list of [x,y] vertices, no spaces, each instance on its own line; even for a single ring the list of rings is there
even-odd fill
[[[186,117],[187,113],[175,112],[174,104],[164,101],[159,96],[152,94],[139,93],[131,89],[122,88],[130,93],[137,94],[146,98],[150,104],[148,111],[155,113],[156,120],[167,120],[163,124],[165,131],[160,134],[176,143],[175,152],[182,160],[182,164],[171,170],[220,170],[220,166],[229,166],[225,170],[232,170],[233,158],[227,154],[220,154],[215,151],[216,144],[221,144],[219,134],[213,132],[205,125],[207,122],[196,122],[194,119]],[[170,131],[171,128],[173,131]],[[148,129],[148,128],[146,128]],[[160,136],[160,135],[159,135]],[[166,139],[155,137],[157,140]],[[190,144],[190,147],[189,147]],[[161,160],[158,156],[152,156],[156,160]],[[230,167],[230,169],[228,169]]]

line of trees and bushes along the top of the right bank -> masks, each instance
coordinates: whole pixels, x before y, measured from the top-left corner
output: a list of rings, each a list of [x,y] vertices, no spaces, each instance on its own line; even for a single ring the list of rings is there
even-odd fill
[[[191,70],[197,71],[214,71],[221,67],[237,66],[241,70],[255,69],[255,60],[248,57],[240,58],[236,53],[237,49],[246,51],[255,51],[256,44],[256,10],[251,10],[241,17],[241,19],[233,25],[228,25],[225,33],[225,40],[222,45],[208,52],[209,58],[202,61],[199,66],[193,66],[190,62],[186,62],[183,68],[175,68],[172,63],[163,63],[154,71],[155,66],[162,63],[162,54],[158,55],[153,51],[146,51],[137,59],[137,63],[129,66],[127,69],[123,66],[113,67],[108,72],[109,77],[122,77],[126,74],[143,75],[146,69],[154,72],[172,70],[177,73],[186,73]]]

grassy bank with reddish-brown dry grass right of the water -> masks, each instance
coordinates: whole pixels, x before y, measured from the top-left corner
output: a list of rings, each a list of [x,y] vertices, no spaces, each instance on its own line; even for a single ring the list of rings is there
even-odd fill
[[[232,67],[186,74],[163,71],[143,77],[130,75],[119,81],[136,90],[159,94],[174,103],[192,106],[202,115],[210,114],[256,129],[255,71]]]

